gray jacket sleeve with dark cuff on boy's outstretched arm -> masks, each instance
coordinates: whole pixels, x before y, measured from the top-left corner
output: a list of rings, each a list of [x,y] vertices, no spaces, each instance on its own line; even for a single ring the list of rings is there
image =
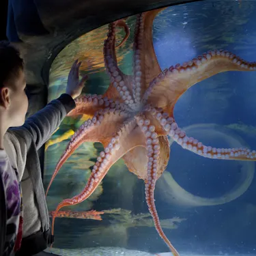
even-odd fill
[[[44,109],[29,117],[23,126],[10,130],[16,136],[22,137],[25,142],[35,143],[36,149],[39,150],[75,106],[70,95],[61,94],[59,98],[48,103]]]

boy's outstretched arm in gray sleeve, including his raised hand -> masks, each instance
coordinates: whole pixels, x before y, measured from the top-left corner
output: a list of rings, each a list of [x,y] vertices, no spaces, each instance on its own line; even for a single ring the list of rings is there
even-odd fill
[[[76,60],[68,75],[66,94],[49,102],[44,109],[29,117],[23,126],[11,128],[14,134],[23,137],[26,145],[35,143],[37,150],[51,137],[64,117],[76,106],[74,98],[80,96],[87,76],[79,81],[81,62]]]

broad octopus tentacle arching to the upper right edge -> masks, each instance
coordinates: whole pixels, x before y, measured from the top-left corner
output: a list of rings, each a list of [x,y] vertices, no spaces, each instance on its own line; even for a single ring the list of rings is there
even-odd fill
[[[209,51],[192,61],[171,66],[158,74],[145,92],[143,102],[162,107],[173,115],[173,107],[177,99],[195,83],[221,72],[255,70],[255,62],[244,61],[229,51]]]

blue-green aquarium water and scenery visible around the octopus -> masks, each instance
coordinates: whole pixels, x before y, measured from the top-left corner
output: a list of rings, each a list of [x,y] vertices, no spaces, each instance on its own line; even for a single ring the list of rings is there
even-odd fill
[[[130,36],[115,49],[124,74],[132,74],[136,18],[123,20]],[[57,55],[50,70],[48,102],[65,93],[68,73],[76,59],[83,61],[80,75],[88,75],[83,94],[104,94],[111,83],[103,54],[107,33],[108,25],[99,27]],[[215,49],[227,50],[240,61],[256,61],[256,2],[214,0],[170,6],[154,18],[152,35],[163,74],[166,68]],[[116,44],[124,36],[124,29],[117,27]],[[147,51],[149,45],[143,47]],[[221,72],[226,64],[221,65],[220,72],[208,79],[201,81],[204,73],[200,74],[199,82],[177,100],[175,122],[188,137],[204,145],[256,150],[256,70]],[[70,138],[89,118],[92,116],[86,111],[66,117],[47,141],[45,188]],[[169,143],[169,162],[156,182],[154,199],[162,229],[173,246],[181,255],[254,254],[255,162],[249,158],[205,158],[170,137]],[[98,141],[86,142],[66,160],[46,197],[50,215],[63,199],[81,193],[102,150]],[[88,199],[60,211],[55,219],[55,253],[107,256],[169,252],[147,208],[145,183],[128,170],[122,159],[115,162]]]

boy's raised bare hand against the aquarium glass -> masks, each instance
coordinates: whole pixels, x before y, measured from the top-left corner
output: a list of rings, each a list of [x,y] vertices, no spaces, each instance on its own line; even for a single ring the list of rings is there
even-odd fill
[[[72,68],[70,70],[70,74],[68,74],[68,85],[66,88],[66,94],[69,94],[73,99],[80,96],[84,83],[87,80],[87,76],[83,76],[83,78],[79,81],[79,68],[81,66],[81,61],[78,59],[74,61]]]

